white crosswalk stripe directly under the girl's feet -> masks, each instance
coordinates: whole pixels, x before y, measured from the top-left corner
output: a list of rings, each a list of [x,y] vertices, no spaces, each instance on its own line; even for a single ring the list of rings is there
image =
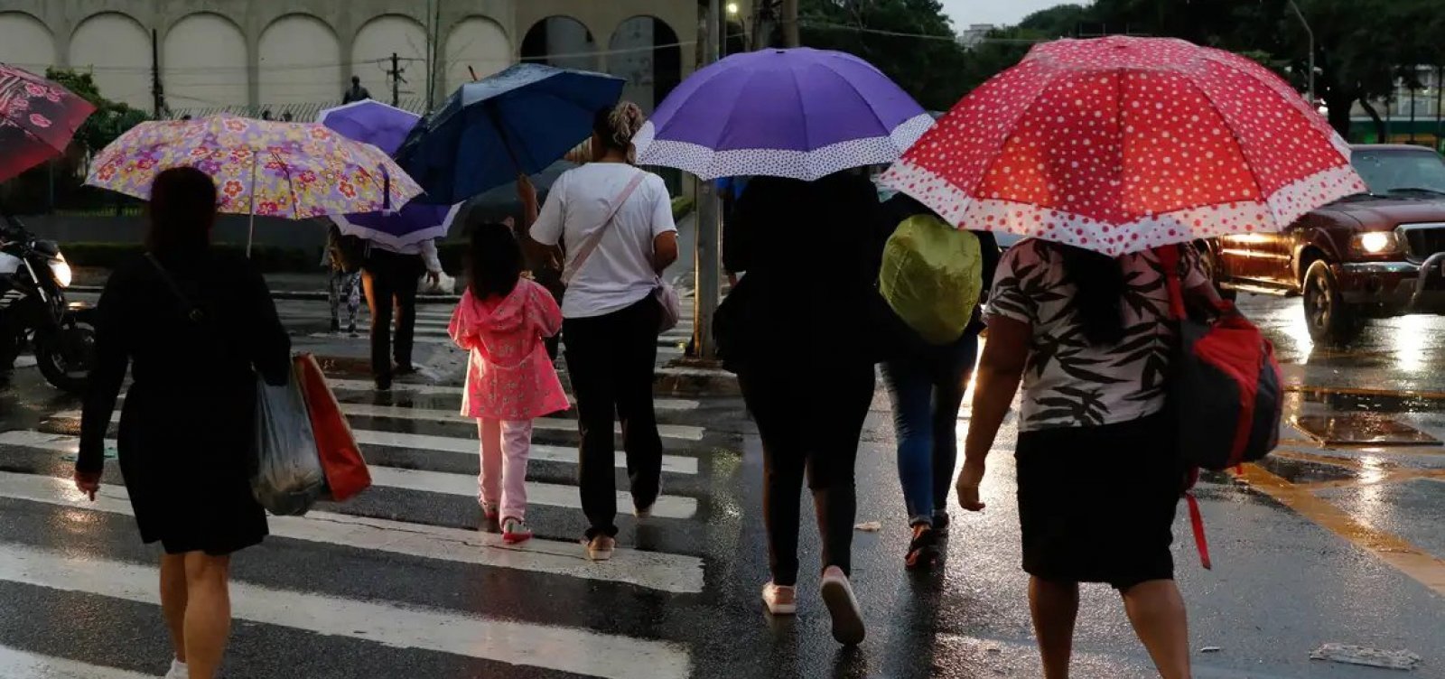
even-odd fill
[[[134,516],[124,487],[101,487],[94,503],[84,501],[69,480],[0,471],[0,497]],[[533,537],[520,545],[500,535],[428,526],[423,523],[311,511],[305,517],[272,516],[270,535],[292,540],[338,545],[425,559],[475,563],[571,578],[626,582],[676,594],[702,591],[702,559],[665,552],[617,548],[611,561],[591,562],[578,542]],[[0,667],[4,663],[0,660]],[[0,676],[9,678],[4,672]]]

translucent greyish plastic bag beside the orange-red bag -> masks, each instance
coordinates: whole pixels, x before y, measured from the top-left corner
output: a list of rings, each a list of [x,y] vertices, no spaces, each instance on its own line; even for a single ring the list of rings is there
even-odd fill
[[[276,516],[302,516],[327,488],[306,399],[295,370],[283,387],[256,380],[256,501]]]

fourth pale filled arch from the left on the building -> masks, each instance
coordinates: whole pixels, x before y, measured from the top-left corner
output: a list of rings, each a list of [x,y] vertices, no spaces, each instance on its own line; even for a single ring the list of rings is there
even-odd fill
[[[341,40],[312,14],[286,14],[262,30],[257,43],[260,105],[279,118],[286,104],[311,104],[341,97]]]

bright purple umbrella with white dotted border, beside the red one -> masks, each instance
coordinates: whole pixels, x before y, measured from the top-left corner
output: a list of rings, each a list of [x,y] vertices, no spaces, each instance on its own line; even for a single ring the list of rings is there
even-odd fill
[[[871,64],[842,52],[728,56],[678,85],[637,134],[637,162],[702,179],[812,181],[884,165],[933,124]]]

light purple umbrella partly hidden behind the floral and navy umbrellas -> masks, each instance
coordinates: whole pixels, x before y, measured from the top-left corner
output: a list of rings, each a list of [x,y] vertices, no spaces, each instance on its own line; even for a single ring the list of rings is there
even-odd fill
[[[420,120],[415,113],[374,100],[327,108],[316,116],[318,123],[338,134],[366,142],[387,155],[396,153]],[[332,220],[344,234],[402,248],[423,240],[445,238],[460,207],[409,202],[396,212],[351,214]]]

